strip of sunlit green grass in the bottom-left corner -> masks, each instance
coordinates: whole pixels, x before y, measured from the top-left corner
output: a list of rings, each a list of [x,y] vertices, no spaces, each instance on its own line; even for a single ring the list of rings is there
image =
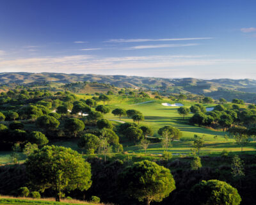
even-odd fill
[[[88,204],[88,205],[95,205],[91,203],[73,203],[73,202],[56,202],[56,201],[46,201],[40,199],[15,199],[15,198],[0,198],[0,204],[24,204],[24,205],[77,205],[77,204]]]

